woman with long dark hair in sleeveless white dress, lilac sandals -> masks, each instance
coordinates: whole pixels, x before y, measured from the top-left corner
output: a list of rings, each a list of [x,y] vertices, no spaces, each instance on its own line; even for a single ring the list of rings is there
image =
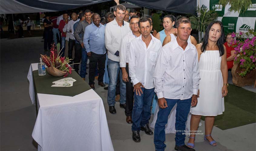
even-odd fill
[[[197,44],[199,60],[200,97],[192,107],[190,130],[195,132],[201,116],[205,116],[204,140],[212,146],[216,141],[211,137],[214,117],[224,111],[224,97],[228,93],[228,66],[224,43],[224,28],[221,21],[213,21],[206,28],[203,43]],[[195,135],[191,134],[188,147],[194,148]]]

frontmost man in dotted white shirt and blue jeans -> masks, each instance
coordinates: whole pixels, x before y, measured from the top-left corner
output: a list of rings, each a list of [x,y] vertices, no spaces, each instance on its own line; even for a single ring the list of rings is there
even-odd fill
[[[195,46],[187,41],[192,30],[189,19],[180,18],[175,25],[177,38],[162,48],[155,65],[155,92],[160,107],[154,131],[155,150],[165,150],[165,124],[177,103],[175,150],[194,151],[185,145],[184,133],[190,107],[197,104],[198,54]]]

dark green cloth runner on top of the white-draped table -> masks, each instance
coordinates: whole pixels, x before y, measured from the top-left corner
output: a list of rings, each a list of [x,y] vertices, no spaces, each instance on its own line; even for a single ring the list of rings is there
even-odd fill
[[[33,71],[35,96],[37,93],[52,94],[52,95],[64,95],[75,96],[90,90],[91,87],[86,83],[75,71],[68,74],[68,77],[72,77],[76,80],[71,87],[51,87],[54,85],[52,82],[63,79],[61,77],[51,76],[46,72],[45,76],[39,76],[38,70]]]

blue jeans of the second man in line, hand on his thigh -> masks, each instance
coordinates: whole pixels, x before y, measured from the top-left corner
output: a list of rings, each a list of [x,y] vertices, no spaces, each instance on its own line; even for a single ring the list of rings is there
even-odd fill
[[[146,89],[141,88],[143,94],[136,95],[134,92],[134,104],[131,113],[132,126],[131,130],[140,130],[141,126],[148,124],[151,117],[150,108],[152,106],[152,99],[155,94],[155,88]]]

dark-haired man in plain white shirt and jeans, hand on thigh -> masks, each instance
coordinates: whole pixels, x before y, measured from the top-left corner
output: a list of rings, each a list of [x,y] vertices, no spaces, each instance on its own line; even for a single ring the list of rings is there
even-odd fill
[[[141,18],[138,22],[141,35],[131,40],[129,48],[129,76],[133,84],[134,105],[132,109],[132,140],[140,142],[140,130],[148,135],[153,135],[148,126],[151,117],[152,99],[154,96],[153,71],[155,68],[158,51],[162,43],[150,31],[150,19]]]

